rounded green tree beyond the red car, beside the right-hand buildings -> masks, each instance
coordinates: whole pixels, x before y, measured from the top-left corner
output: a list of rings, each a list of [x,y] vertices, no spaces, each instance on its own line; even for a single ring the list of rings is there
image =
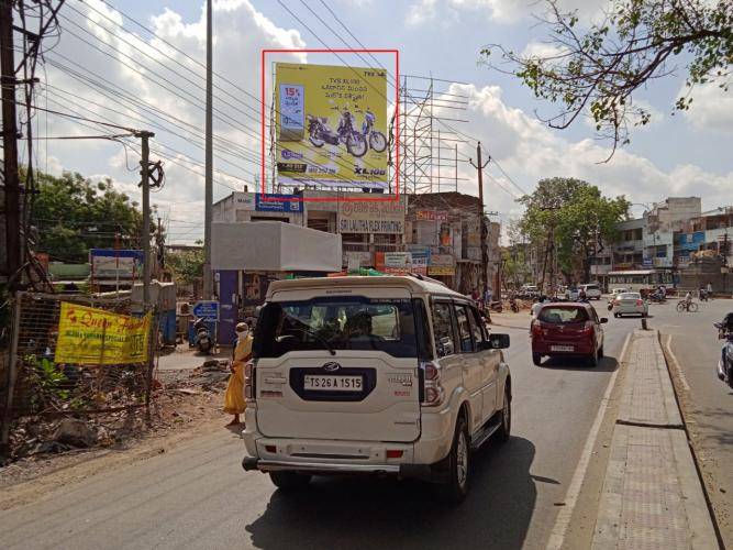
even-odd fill
[[[631,206],[623,196],[610,199],[587,182],[562,177],[542,179],[519,202],[525,207],[519,223],[522,233],[546,250],[553,246],[566,275],[579,266],[585,280],[590,279],[590,258],[617,239],[615,223],[626,218]]]

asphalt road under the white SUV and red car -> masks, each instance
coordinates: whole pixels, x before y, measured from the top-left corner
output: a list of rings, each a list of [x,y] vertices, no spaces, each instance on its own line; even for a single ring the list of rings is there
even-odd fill
[[[430,485],[389,479],[319,479],[301,494],[284,495],[266,475],[242,471],[243,444],[222,428],[0,513],[1,546],[544,548],[618,367],[614,358],[637,326],[611,319],[607,358],[596,369],[535,367],[526,330],[495,329],[512,337],[512,438],[475,455],[471,492],[459,507],[442,504]]]

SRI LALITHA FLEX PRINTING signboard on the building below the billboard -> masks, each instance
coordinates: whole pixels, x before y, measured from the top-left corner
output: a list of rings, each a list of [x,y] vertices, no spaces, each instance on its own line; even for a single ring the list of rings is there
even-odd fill
[[[404,233],[404,197],[399,201],[344,201],[338,205],[340,233]]]

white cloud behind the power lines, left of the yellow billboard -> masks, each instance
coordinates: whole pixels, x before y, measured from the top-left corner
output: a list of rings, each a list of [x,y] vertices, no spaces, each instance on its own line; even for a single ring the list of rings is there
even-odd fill
[[[74,8],[81,13],[65,10],[64,16],[79,26],[65,21],[63,40],[47,56],[48,108],[155,132],[151,140],[151,157],[155,161],[165,156],[167,180],[166,188],[155,195],[155,201],[160,205],[199,202],[203,198],[206,79],[204,69],[192,59],[203,62],[206,58],[203,9],[195,21],[185,21],[170,9],[149,18],[151,29],[174,48],[162,40],[151,38],[99,0],[77,2]],[[115,23],[124,23],[126,30]],[[75,34],[110,55],[99,53]],[[215,199],[229,194],[231,188],[241,189],[245,183],[252,185],[253,174],[259,170],[260,50],[303,47],[306,42],[297,30],[278,26],[249,0],[219,0],[214,3],[214,72],[220,75],[214,77]],[[279,58],[306,59],[304,55],[290,54]],[[63,64],[65,68],[52,63]],[[98,81],[108,91],[100,91],[88,81],[79,81],[70,74],[73,72]],[[129,96],[116,96],[120,92]],[[145,106],[136,105],[136,101],[144,101]],[[41,105],[45,107],[45,97]],[[162,112],[175,119],[156,116]],[[48,117],[48,135],[119,132],[87,124],[90,128],[68,119]],[[127,150],[127,163],[133,172],[127,170],[124,150],[114,142],[54,141],[47,146],[47,155],[45,143],[38,151],[42,169],[47,164],[54,173],[62,169],[87,175],[109,172],[120,189],[124,188],[131,198],[140,199],[136,187],[138,140],[132,139]],[[191,216],[195,220],[201,218]]]

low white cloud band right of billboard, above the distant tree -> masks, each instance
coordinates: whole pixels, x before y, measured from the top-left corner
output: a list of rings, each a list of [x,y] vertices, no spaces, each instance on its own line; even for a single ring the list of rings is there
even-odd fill
[[[693,195],[702,197],[703,205],[717,206],[733,185],[733,172],[713,174],[691,164],[663,170],[651,160],[626,150],[617,151],[609,163],[598,164],[609,156],[608,146],[590,139],[567,140],[522,110],[509,107],[497,86],[477,88],[454,84],[448,92],[470,98],[468,110],[460,117],[470,122],[459,130],[481,139],[492,158],[526,191],[542,178],[567,176],[597,185],[611,197],[626,195],[634,201],[649,202],[668,196]],[[475,147],[475,143],[465,150],[467,156],[475,155],[470,147]],[[496,182],[515,195],[521,191],[496,164],[489,163],[485,174],[488,174],[487,208],[515,216],[520,209],[514,198]],[[470,178],[470,183],[462,186],[463,190],[477,194],[475,170],[465,166],[463,176]]]

